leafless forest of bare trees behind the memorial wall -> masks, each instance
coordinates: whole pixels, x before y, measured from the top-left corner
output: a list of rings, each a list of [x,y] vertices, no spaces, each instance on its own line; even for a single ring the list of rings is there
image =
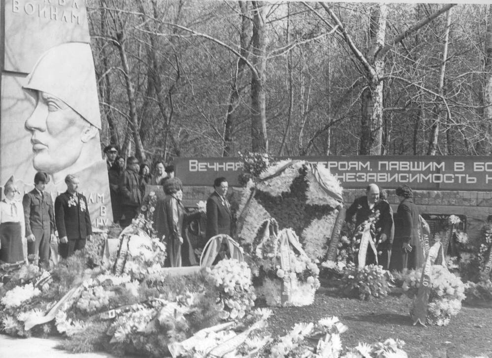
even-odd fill
[[[142,160],[492,152],[492,5],[87,5],[102,140]]]

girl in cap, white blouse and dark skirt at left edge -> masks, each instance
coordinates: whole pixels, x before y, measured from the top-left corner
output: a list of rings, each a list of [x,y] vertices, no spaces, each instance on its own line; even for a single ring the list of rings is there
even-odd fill
[[[5,198],[0,201],[0,261],[13,263],[26,260],[23,239],[26,236],[24,209],[14,200],[19,193],[11,178],[3,190]]]

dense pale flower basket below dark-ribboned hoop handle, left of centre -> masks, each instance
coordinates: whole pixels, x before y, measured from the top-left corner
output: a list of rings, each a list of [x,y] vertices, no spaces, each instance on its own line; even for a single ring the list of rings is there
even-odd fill
[[[224,305],[224,320],[242,319],[254,306],[256,295],[251,283],[251,270],[246,262],[220,260],[214,268],[207,267]]]

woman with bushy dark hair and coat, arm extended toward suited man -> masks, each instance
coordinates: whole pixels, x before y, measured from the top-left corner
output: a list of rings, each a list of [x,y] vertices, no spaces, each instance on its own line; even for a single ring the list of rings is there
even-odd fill
[[[166,180],[163,189],[166,196],[157,202],[154,223],[161,241],[166,243],[166,266],[196,265],[193,247],[189,241],[186,225],[201,212],[187,213],[181,200],[183,184],[178,178]]]

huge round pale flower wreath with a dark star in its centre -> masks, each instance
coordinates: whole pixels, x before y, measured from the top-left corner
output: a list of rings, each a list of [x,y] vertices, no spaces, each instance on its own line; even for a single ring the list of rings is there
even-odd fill
[[[342,188],[330,170],[286,160],[249,175],[237,211],[240,243],[251,245],[261,223],[275,218],[281,228],[293,228],[309,258],[323,259],[342,202]]]

